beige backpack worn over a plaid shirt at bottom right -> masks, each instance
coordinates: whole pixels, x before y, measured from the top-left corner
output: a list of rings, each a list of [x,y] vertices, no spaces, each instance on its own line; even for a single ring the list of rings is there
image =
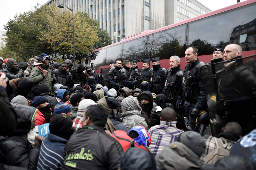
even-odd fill
[[[230,143],[223,144],[222,140],[216,137],[213,137],[217,148],[208,153],[205,157],[205,164],[215,164],[219,159],[229,156],[231,145]]]

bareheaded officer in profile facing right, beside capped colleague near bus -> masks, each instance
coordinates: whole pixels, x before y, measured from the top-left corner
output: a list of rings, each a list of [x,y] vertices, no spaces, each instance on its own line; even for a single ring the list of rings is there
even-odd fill
[[[123,62],[123,67],[120,70],[120,86],[119,88],[127,87],[129,89],[135,89],[137,80],[131,80],[130,71],[130,64],[129,60],[125,60]]]

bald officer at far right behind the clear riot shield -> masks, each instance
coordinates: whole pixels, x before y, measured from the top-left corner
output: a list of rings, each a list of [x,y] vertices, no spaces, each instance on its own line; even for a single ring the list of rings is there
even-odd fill
[[[256,76],[255,70],[244,64],[241,54],[242,48],[238,44],[225,47],[223,57],[227,62],[222,66],[224,71],[217,74],[217,84],[219,97],[229,101],[228,105],[223,105],[224,108],[221,108],[227,112],[225,121],[239,123],[243,128],[242,135],[245,135],[254,129],[252,124],[255,122],[253,114],[256,107],[253,97],[255,97]],[[230,60],[234,61],[229,62]],[[243,98],[249,100],[242,100]],[[233,116],[229,116],[228,113]]]

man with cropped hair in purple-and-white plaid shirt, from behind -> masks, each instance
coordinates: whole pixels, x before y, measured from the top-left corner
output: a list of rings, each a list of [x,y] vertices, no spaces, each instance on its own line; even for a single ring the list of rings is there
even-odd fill
[[[165,146],[176,142],[178,136],[183,132],[176,128],[176,112],[166,107],[161,112],[160,124],[149,129],[151,135],[150,150],[156,156]]]

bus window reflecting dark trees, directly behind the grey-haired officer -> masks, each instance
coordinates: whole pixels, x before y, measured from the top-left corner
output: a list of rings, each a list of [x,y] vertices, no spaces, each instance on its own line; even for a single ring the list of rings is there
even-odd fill
[[[169,59],[174,55],[185,57],[186,26],[187,24],[183,24],[151,34],[148,39],[148,46],[149,49],[153,49],[152,58]]]

